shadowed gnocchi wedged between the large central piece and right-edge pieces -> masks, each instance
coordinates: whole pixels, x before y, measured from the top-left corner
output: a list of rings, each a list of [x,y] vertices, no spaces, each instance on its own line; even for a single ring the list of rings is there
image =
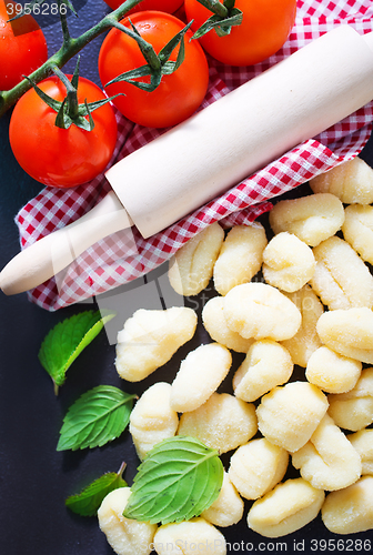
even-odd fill
[[[281,344],[288,349],[294,364],[305,367],[311,354],[321,346],[316,323],[324,307],[310,285],[304,285],[294,293],[288,293],[286,296],[300,310],[302,323],[295,335],[282,341]]]

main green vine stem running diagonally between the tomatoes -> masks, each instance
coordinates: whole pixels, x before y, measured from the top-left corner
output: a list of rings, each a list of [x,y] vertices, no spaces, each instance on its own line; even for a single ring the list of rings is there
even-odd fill
[[[112,27],[115,27],[118,21],[122,19],[125,13],[134,8],[141,0],[125,0],[117,10],[108,13],[101,21],[94,24],[91,29],[83,32],[78,38],[70,37],[67,29],[63,32],[63,43],[62,47],[52,54],[39,69],[33,71],[29,77],[33,82],[40,83],[43,79],[47,79],[53,74],[53,67],[62,68],[71,58],[73,58],[78,52],[80,52],[89,42],[93,39],[108,31]],[[63,16],[61,16],[62,18]],[[13,89],[9,91],[0,91],[0,118],[11,108],[29,89],[31,89],[31,83],[23,79]]]

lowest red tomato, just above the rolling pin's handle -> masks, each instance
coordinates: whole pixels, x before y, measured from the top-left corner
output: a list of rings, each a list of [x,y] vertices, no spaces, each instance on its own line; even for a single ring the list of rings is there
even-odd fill
[[[65,88],[57,77],[39,88],[62,101]],[[83,103],[105,98],[88,79],[80,78],[78,100]],[[94,110],[94,129],[54,125],[57,113],[29,90],[17,102],[10,120],[9,139],[16,159],[33,179],[46,185],[70,188],[95,178],[104,170],[117,142],[117,121],[110,104]]]

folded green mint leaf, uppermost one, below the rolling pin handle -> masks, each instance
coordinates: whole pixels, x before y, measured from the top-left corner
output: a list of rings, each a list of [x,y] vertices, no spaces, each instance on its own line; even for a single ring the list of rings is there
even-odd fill
[[[73,361],[114,315],[102,315],[100,311],[81,312],[63,320],[48,333],[39,351],[39,361],[53,380],[56,392],[64,383]]]

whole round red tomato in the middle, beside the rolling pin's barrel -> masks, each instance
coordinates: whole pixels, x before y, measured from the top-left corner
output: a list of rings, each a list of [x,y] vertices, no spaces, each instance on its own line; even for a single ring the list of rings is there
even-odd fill
[[[169,13],[143,11],[131,16],[131,21],[141,34],[159,51],[174,37],[184,23]],[[122,21],[130,27],[128,18]],[[198,41],[184,38],[185,59],[170,75],[163,75],[160,85],[152,92],[120,82],[105,88],[111,97],[123,92],[113,103],[129,120],[151,128],[175,125],[191,115],[201,104],[209,84],[209,65]],[[172,52],[175,60],[179,47]],[[138,43],[118,29],[112,29],[104,39],[99,56],[99,73],[103,85],[125,71],[145,63]],[[145,80],[145,79],[144,79]],[[149,82],[149,78],[147,78]]]

